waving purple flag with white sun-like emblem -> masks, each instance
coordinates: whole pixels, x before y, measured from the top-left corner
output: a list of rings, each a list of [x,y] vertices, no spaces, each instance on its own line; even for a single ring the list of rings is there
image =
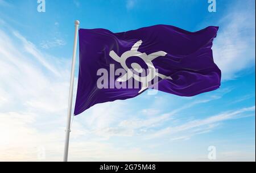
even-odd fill
[[[121,33],[80,29],[75,115],[97,103],[134,98],[148,88],[179,96],[216,90],[221,81],[212,54],[217,31],[166,25]]]

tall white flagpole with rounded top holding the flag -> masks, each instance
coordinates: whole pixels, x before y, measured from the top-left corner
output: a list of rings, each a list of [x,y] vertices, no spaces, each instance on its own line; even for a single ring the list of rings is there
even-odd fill
[[[79,20],[75,21],[75,39],[73,47],[73,59],[72,59],[72,70],[71,70],[71,79],[69,86],[69,99],[68,99],[68,119],[67,119],[67,128],[66,128],[66,138],[65,138],[65,149],[64,149],[64,162],[68,162],[68,146],[69,146],[69,134],[71,132],[71,111],[72,111],[72,100],[73,100],[73,87],[74,87],[74,77],[75,77],[75,65],[76,65],[76,49],[77,49],[77,36],[79,30]]]

